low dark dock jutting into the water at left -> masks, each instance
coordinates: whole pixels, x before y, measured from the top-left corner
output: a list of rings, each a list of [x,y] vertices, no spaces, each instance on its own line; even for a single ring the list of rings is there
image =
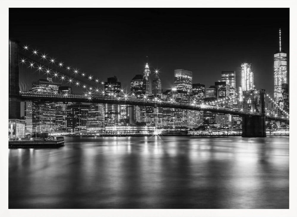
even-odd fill
[[[64,146],[64,137],[10,139],[8,148],[59,148]]]

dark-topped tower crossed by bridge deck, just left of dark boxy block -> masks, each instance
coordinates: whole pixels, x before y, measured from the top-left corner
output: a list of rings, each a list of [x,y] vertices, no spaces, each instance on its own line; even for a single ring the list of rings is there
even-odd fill
[[[60,86],[58,94],[72,94],[72,88],[69,86]],[[72,102],[56,103],[56,132],[67,132],[67,107],[72,104]]]

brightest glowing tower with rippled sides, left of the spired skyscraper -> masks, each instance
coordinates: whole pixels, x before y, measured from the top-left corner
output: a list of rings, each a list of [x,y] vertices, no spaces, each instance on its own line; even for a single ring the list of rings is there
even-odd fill
[[[254,89],[254,73],[252,72],[251,63],[241,64],[241,86],[239,91],[239,101],[242,101],[243,91],[249,91]]]

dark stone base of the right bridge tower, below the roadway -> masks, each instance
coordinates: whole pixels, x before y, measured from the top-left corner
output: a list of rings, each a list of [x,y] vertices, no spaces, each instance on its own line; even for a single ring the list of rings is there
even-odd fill
[[[265,116],[242,117],[242,137],[266,137]]]

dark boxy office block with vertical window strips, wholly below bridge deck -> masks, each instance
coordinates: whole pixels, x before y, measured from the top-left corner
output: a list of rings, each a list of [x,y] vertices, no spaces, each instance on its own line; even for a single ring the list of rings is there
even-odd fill
[[[67,107],[67,132],[86,132],[87,114],[89,105],[76,103]]]

